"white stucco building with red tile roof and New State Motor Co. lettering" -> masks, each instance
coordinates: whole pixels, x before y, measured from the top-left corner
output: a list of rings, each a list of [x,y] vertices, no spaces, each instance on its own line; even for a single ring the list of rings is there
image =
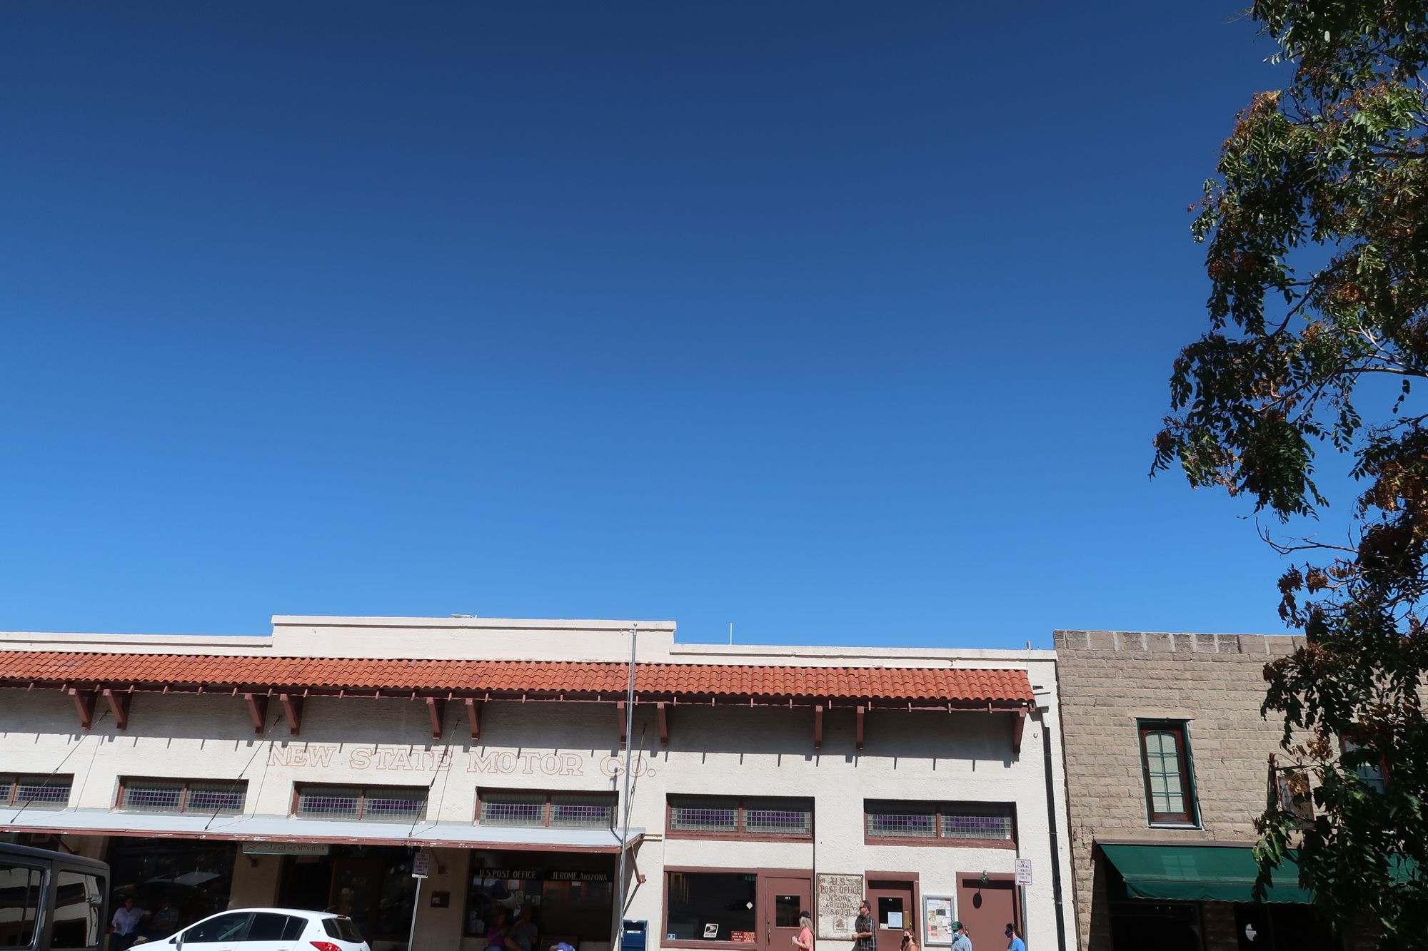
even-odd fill
[[[0,634],[0,832],[106,858],[169,921],[333,908],[378,951],[413,910],[417,948],[480,951],[534,910],[540,947],[607,951],[623,848],[650,948],[785,951],[803,908],[847,948],[864,894],[878,951],[910,924],[937,947],[941,912],[978,951],[1011,918],[1074,948],[1051,651],[688,645],[640,621],[625,737],[634,628]]]

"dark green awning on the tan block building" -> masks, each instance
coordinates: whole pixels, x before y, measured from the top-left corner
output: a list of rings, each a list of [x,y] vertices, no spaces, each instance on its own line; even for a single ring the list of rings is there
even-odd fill
[[[1101,845],[1132,898],[1174,901],[1254,901],[1258,868],[1248,845]],[[1285,860],[1274,870],[1265,901],[1309,904],[1299,867]]]

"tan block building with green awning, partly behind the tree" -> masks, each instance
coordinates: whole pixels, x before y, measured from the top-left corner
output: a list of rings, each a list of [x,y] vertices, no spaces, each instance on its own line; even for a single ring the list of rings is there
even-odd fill
[[[1334,948],[1292,867],[1251,901],[1288,635],[1057,631],[1078,940],[1127,951]],[[1365,781],[1375,781],[1367,775]],[[1377,781],[1382,781],[1378,777]],[[1274,785],[1272,785],[1274,784]]]

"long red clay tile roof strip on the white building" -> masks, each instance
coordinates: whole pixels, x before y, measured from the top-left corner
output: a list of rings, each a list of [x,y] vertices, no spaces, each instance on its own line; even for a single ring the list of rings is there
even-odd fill
[[[257,688],[318,693],[623,694],[630,668],[613,663],[364,660],[86,654],[0,650],[0,684],[107,684],[117,688]],[[1032,703],[1024,670],[967,667],[764,667],[637,664],[641,695],[824,697],[898,701]]]

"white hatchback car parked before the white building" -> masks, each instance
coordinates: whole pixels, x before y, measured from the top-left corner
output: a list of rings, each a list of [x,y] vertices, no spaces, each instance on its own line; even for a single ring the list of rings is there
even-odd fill
[[[157,941],[154,951],[371,951],[346,915],[297,908],[234,908]]]

